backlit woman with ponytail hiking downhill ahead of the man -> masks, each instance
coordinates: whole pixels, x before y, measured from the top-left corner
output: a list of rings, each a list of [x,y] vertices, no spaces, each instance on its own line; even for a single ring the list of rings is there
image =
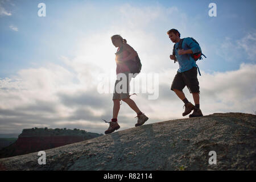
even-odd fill
[[[121,100],[123,102],[126,102],[131,107],[131,109],[133,109],[137,113],[138,121],[135,126],[143,125],[144,122],[146,122],[148,119],[148,117],[146,117],[146,115],[144,115],[142,111],[139,110],[135,102],[131,100],[129,95],[131,76],[129,77],[130,69],[126,64],[126,61],[135,61],[137,52],[131,46],[129,46],[129,44],[127,44],[127,41],[123,39],[120,35],[113,35],[111,39],[113,45],[115,47],[118,47],[117,53],[115,53],[115,62],[117,63],[117,81],[115,81],[115,88],[113,94],[113,118],[111,119],[111,122],[109,122],[109,129],[105,131],[105,134],[110,134],[120,128],[117,123],[117,115],[120,109]],[[126,79],[126,85],[121,84],[120,81],[123,81],[123,79]],[[125,81],[122,83],[125,83]],[[123,89],[123,86],[126,86],[126,88]],[[125,90],[125,92],[123,92],[123,90]]]

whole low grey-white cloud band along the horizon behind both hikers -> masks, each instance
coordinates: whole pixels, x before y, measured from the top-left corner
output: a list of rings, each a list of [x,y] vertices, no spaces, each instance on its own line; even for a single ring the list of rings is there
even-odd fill
[[[241,64],[230,72],[203,73],[199,77],[201,109],[204,115],[216,112],[252,113],[256,108],[256,65]],[[182,118],[183,102],[170,90],[174,69],[160,73],[159,98],[148,100],[147,94],[131,98],[150,117],[148,123]],[[104,133],[112,118],[112,94],[97,93],[72,82],[67,69],[51,65],[47,69],[23,69],[16,78],[0,80],[1,133],[15,133],[28,127],[80,128]],[[189,101],[192,95],[185,88]],[[122,130],[134,127],[134,111],[122,102],[118,121]]]

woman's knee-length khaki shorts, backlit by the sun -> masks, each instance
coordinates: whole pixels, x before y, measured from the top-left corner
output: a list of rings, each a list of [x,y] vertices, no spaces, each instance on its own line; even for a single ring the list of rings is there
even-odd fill
[[[130,98],[130,72],[118,73],[117,80],[115,81],[114,93],[112,100],[122,100],[124,98]]]

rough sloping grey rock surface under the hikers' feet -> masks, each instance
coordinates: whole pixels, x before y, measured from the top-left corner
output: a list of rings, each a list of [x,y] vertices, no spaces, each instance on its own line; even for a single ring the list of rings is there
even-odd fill
[[[122,123],[120,123],[122,127]],[[255,170],[256,115],[214,113],[157,122],[0,159],[2,170]],[[216,151],[217,164],[209,164]]]

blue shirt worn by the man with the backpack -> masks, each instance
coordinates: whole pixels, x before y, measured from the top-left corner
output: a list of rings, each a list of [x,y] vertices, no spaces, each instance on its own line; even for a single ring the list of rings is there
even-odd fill
[[[191,56],[191,53],[179,55],[178,47],[179,47],[179,43],[176,43],[175,55],[180,66],[180,68],[177,71],[182,73],[182,72],[188,71],[189,69],[192,69],[193,67],[196,67],[196,61]],[[200,46],[197,43],[195,43],[191,38],[184,38],[182,43],[182,49],[184,50],[191,49],[193,53],[201,51]]]

